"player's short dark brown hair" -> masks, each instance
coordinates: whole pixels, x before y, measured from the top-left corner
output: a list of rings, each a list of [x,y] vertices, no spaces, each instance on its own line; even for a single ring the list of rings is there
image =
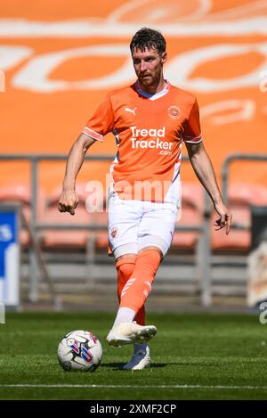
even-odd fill
[[[154,48],[157,49],[158,55],[162,55],[162,53],[166,52],[166,40],[158,30],[142,28],[135,33],[131,41],[130,49],[132,54],[135,48],[140,49],[142,52],[146,48]]]

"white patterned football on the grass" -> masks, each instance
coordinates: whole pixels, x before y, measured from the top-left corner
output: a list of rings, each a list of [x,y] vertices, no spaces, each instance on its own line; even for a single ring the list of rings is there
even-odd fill
[[[101,342],[89,331],[69,332],[58,347],[60,365],[68,372],[93,372],[101,364],[101,358]]]

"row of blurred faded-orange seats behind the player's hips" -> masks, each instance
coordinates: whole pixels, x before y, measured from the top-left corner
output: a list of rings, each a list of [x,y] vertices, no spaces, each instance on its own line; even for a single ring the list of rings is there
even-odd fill
[[[79,204],[76,215],[60,213],[57,209],[61,193],[61,185],[55,187],[49,195],[44,190],[37,191],[37,222],[42,224],[60,225],[107,225],[108,213],[106,200],[100,195],[90,195],[86,192],[85,183],[77,183]],[[97,201],[96,201],[97,200]],[[233,214],[234,224],[244,227],[243,230],[232,229],[226,236],[224,230],[215,231],[214,221],[218,215],[214,212],[211,222],[211,247],[213,251],[247,252],[250,247],[250,205],[267,205],[267,188],[260,184],[230,184],[228,200]],[[24,216],[30,222],[32,216],[31,193],[27,184],[9,184],[0,188],[1,201],[19,201]],[[91,211],[92,205],[100,211]],[[176,225],[202,226],[204,213],[204,193],[200,184],[182,184],[182,216],[177,217]],[[59,248],[83,249],[88,237],[95,237],[96,249],[108,248],[107,230],[92,232],[90,230],[42,230],[39,242],[44,249]],[[177,231],[174,233],[173,249],[194,250],[198,242],[199,233],[194,231]],[[28,247],[28,233],[25,229],[20,232],[20,242],[24,248]]]

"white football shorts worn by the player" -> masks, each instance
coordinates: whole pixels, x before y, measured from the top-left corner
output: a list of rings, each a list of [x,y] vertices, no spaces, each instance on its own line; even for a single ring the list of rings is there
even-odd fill
[[[115,258],[137,254],[153,246],[163,256],[174,236],[177,207],[174,203],[125,201],[117,193],[109,197],[109,247]]]

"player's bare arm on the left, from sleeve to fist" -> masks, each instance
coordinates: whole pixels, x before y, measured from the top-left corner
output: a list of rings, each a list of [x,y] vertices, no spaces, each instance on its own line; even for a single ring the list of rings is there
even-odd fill
[[[87,150],[94,142],[95,140],[90,136],[81,134],[71,147],[62,185],[61,197],[58,204],[60,212],[69,212],[70,215],[75,214],[75,209],[78,204],[77,193],[75,191],[76,177],[83,165]]]

